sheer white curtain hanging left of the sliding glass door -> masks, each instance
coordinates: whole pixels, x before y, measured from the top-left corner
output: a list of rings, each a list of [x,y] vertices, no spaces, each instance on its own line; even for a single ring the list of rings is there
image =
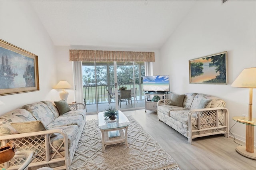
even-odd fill
[[[83,79],[82,79],[82,62],[73,61],[74,93],[77,103],[84,103],[83,99]]]

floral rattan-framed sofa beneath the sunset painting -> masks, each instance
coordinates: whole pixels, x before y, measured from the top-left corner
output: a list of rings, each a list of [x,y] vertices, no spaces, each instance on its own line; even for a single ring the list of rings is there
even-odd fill
[[[158,120],[188,138],[225,134],[229,137],[228,109],[225,101],[201,93],[170,94],[157,103]]]

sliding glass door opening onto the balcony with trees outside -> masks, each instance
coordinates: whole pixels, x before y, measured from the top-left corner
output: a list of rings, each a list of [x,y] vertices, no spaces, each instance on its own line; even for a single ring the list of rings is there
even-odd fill
[[[144,68],[144,62],[82,62],[83,97],[87,113],[104,111],[109,106],[120,110],[143,108],[141,80],[145,75]],[[125,101],[118,103],[120,87],[132,92],[132,101],[127,101],[127,105]]]

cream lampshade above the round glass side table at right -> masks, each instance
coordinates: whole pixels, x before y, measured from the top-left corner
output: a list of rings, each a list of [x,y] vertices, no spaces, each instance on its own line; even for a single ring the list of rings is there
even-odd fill
[[[244,69],[231,87],[256,88],[256,67]]]

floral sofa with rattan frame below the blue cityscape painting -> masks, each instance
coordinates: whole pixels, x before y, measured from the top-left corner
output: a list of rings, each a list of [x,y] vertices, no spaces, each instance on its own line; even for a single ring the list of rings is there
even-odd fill
[[[68,170],[86,123],[83,103],[65,100],[24,105],[0,116],[0,147],[13,141],[17,150],[33,150],[31,169]],[[23,160],[10,160],[0,168],[18,169]]]

